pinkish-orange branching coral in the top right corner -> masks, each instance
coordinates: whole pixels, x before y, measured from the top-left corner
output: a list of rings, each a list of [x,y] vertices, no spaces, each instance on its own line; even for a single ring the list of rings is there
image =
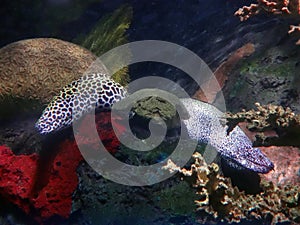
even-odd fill
[[[240,17],[241,21],[249,19],[251,16],[265,11],[275,15],[287,15],[292,17],[300,17],[300,1],[299,0],[257,0],[257,4],[243,6],[235,12],[234,15]],[[291,25],[289,33],[299,31],[299,26]],[[300,44],[300,40],[296,44]]]

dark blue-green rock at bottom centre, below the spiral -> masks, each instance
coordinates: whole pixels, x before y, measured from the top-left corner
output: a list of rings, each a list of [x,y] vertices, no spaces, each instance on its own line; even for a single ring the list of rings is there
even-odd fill
[[[195,194],[178,177],[135,187],[107,180],[84,163],[77,172],[79,185],[73,195],[72,214],[75,218],[79,215],[78,220],[97,225],[197,224],[191,215]]]

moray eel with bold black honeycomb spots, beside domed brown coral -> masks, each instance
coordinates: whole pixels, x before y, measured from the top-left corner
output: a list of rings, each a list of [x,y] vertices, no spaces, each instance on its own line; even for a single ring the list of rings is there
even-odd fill
[[[61,130],[96,108],[109,109],[127,91],[105,74],[88,74],[65,86],[43,111],[35,127],[41,134]]]

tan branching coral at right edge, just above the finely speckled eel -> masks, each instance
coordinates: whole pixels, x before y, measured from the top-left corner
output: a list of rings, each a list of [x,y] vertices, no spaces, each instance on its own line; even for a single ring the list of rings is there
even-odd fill
[[[257,110],[227,113],[228,133],[239,122],[246,122],[249,130],[260,132],[256,135],[255,145],[300,146],[300,115],[296,115],[289,107],[255,105]],[[265,136],[266,131],[275,131],[276,134]]]

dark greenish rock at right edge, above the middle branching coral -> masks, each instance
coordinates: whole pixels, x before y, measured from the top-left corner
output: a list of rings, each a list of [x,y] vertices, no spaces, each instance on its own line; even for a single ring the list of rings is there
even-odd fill
[[[253,56],[239,63],[223,90],[227,109],[250,109],[260,102],[300,111],[300,48],[284,37],[281,41],[274,41],[267,49],[258,47]]]

